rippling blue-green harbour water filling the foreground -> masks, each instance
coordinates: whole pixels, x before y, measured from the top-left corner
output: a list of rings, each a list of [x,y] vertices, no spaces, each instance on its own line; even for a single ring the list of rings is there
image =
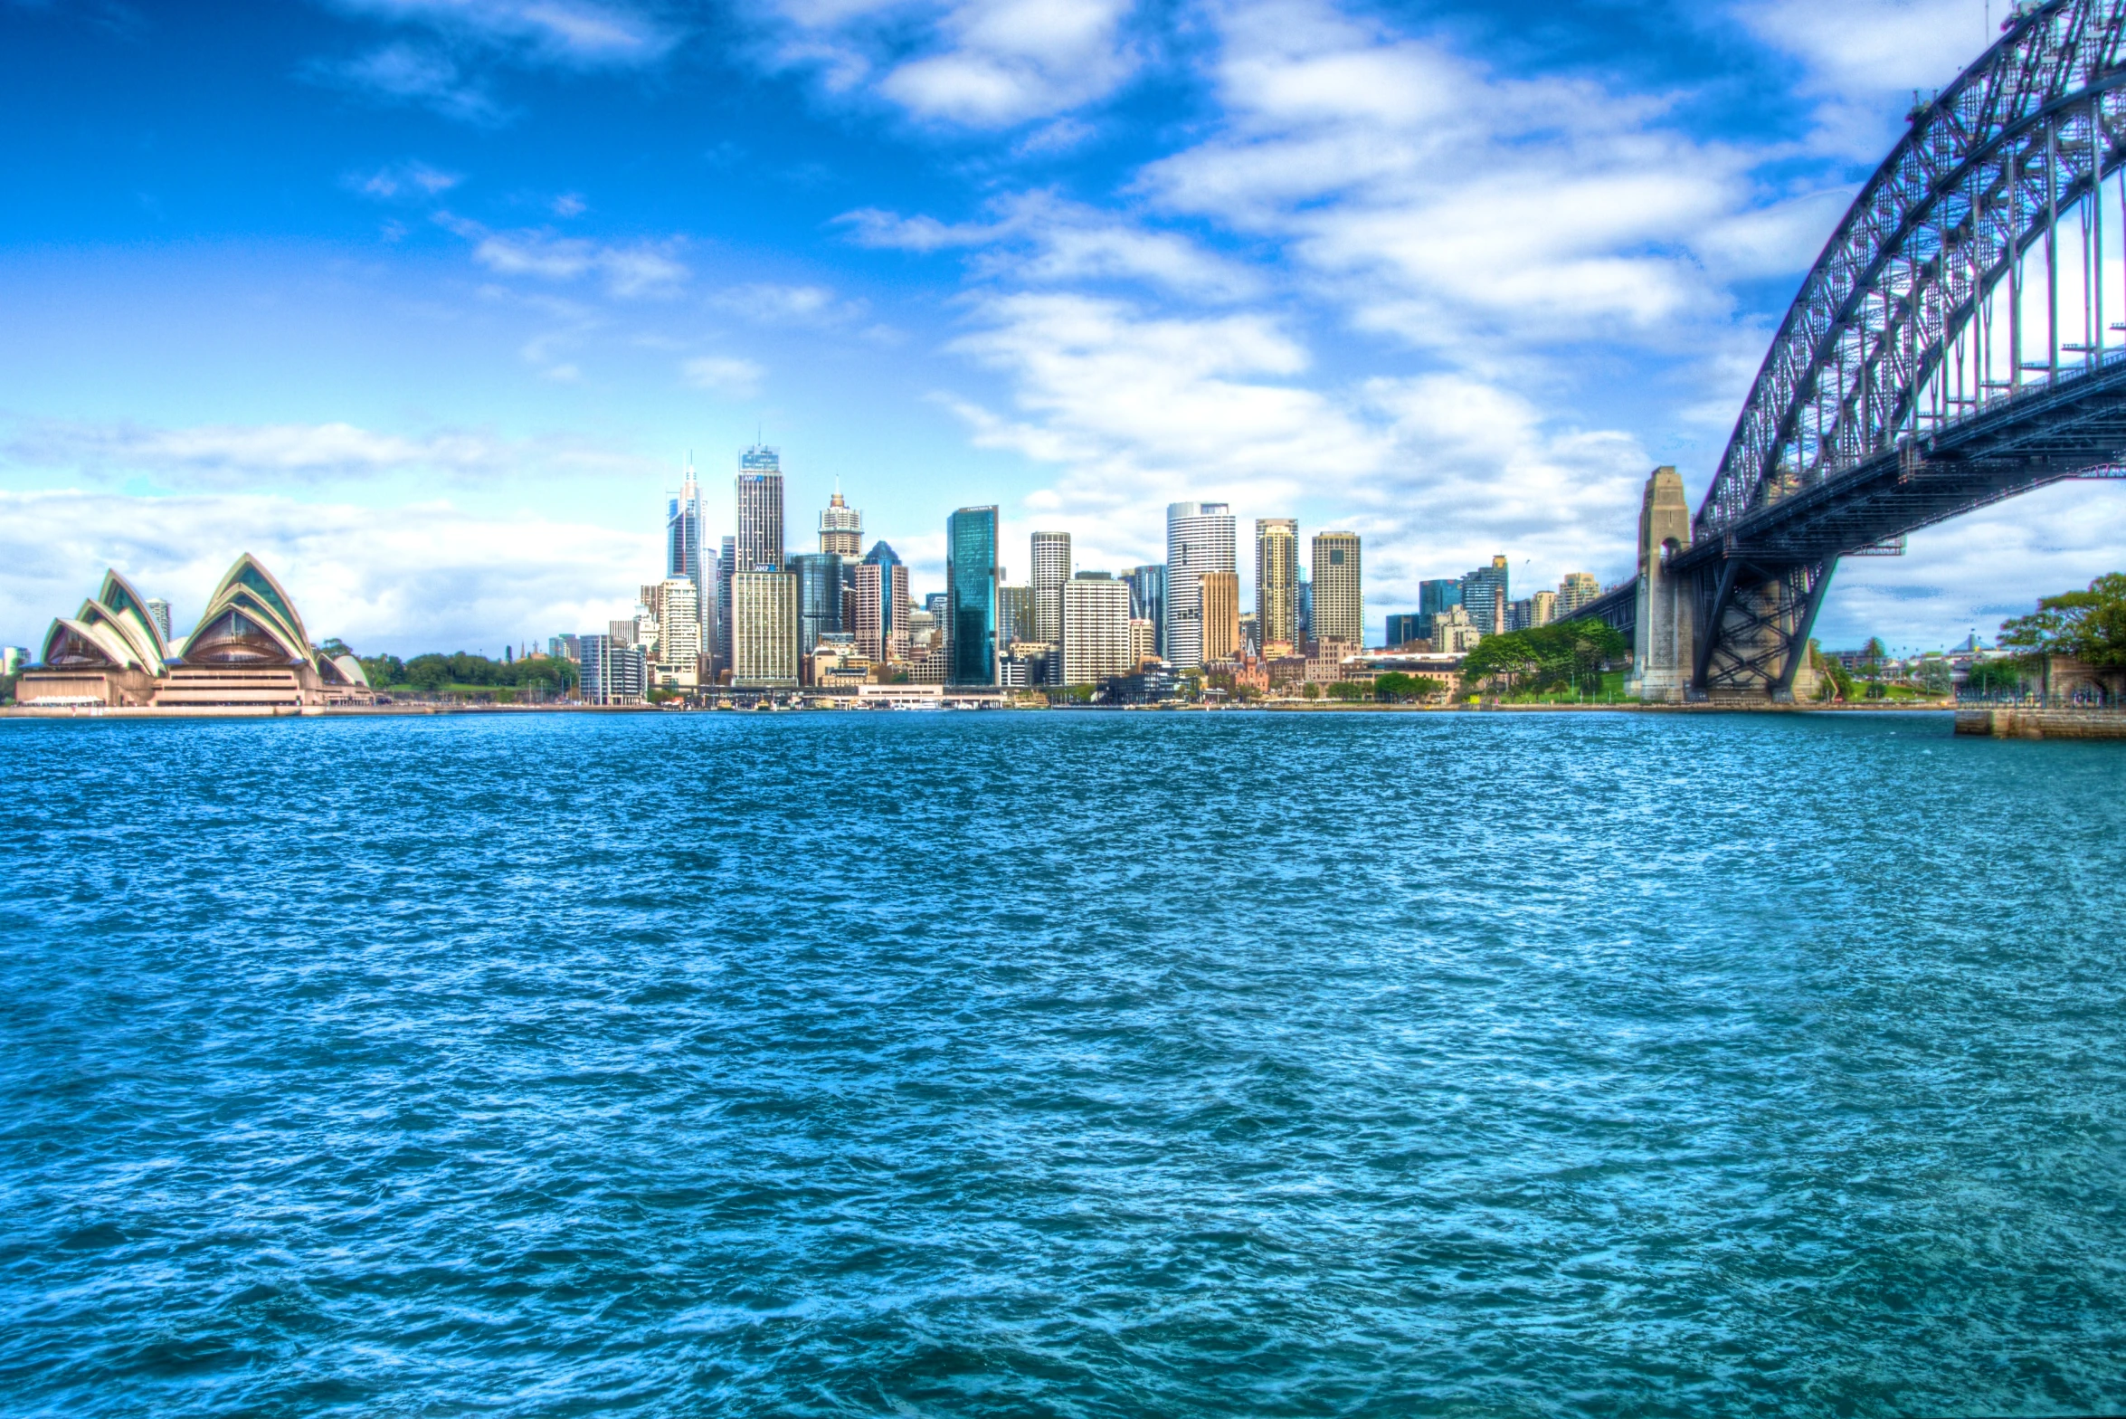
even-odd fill
[[[0,723],[0,1413],[2126,1408],[2126,745]]]

